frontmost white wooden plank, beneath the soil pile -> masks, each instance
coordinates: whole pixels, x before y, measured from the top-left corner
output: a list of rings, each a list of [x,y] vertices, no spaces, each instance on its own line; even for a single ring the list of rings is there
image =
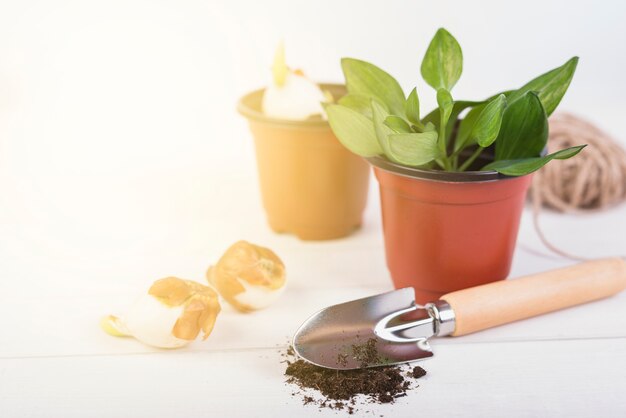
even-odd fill
[[[626,339],[436,345],[420,387],[359,416],[623,416]],[[341,416],[303,406],[276,349],[0,360],[3,417]]]

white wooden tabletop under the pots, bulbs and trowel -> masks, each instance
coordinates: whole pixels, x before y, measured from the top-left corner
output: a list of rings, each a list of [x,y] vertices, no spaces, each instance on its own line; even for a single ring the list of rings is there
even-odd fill
[[[280,353],[316,310],[391,289],[376,189],[355,235],[300,242],[266,227],[250,151],[246,159],[247,169],[212,184],[211,199],[199,205],[207,212],[173,213],[171,223],[147,213],[125,232],[113,228],[107,235],[94,219],[91,232],[65,228],[63,235],[27,223],[17,211],[3,213],[0,417],[346,413],[318,411],[293,397]],[[235,183],[238,193],[231,192]],[[603,256],[626,249],[625,216],[621,206],[582,217],[546,213],[542,223],[568,250]],[[527,211],[512,276],[570,264],[541,247],[530,221]],[[81,234],[93,239],[80,241]],[[272,307],[244,315],[225,306],[207,341],[176,351],[99,329],[101,316],[123,312],[157,278],[202,280],[206,267],[241,238],[273,248],[287,265],[288,290]],[[394,405],[362,406],[360,414],[626,416],[626,293],[432,345],[435,357],[423,363],[428,375],[419,388]]]

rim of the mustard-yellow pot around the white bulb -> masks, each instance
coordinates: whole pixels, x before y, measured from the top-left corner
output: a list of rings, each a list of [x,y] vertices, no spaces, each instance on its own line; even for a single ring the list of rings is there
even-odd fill
[[[343,84],[333,83],[321,83],[320,87],[323,90],[328,90],[335,101],[346,94],[346,87]],[[294,127],[319,127],[328,128],[328,121],[321,118],[311,118],[305,120],[290,120],[290,119],[278,119],[266,116],[261,110],[261,101],[263,100],[263,93],[265,89],[259,89],[252,91],[241,99],[237,103],[237,111],[248,119],[253,119],[260,122],[273,123],[282,126],[294,126]]]

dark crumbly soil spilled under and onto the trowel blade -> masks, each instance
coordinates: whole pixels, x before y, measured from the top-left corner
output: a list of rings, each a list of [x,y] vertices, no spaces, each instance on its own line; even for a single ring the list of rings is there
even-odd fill
[[[362,367],[378,362],[376,340],[352,347],[354,358]],[[356,411],[358,395],[365,395],[366,402],[387,404],[394,403],[397,398],[407,395],[414,388],[414,381],[426,375],[426,370],[416,366],[383,366],[355,370],[326,369],[298,359],[292,347],[286,357],[287,383],[298,386],[300,391],[293,393],[301,396],[305,405],[315,404],[319,408],[345,409],[349,414]],[[337,359],[338,365],[345,357]],[[415,386],[416,387],[416,386]],[[318,399],[307,394],[313,390],[323,397]]]

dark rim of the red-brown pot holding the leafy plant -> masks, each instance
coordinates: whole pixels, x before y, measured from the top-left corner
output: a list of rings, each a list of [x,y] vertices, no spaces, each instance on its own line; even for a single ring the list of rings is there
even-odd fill
[[[382,157],[367,158],[370,164],[402,177],[413,179],[436,181],[443,183],[486,183],[500,180],[508,180],[516,177],[505,176],[497,171],[463,171],[450,172],[442,170],[422,170],[419,168],[407,167],[396,164]]]

